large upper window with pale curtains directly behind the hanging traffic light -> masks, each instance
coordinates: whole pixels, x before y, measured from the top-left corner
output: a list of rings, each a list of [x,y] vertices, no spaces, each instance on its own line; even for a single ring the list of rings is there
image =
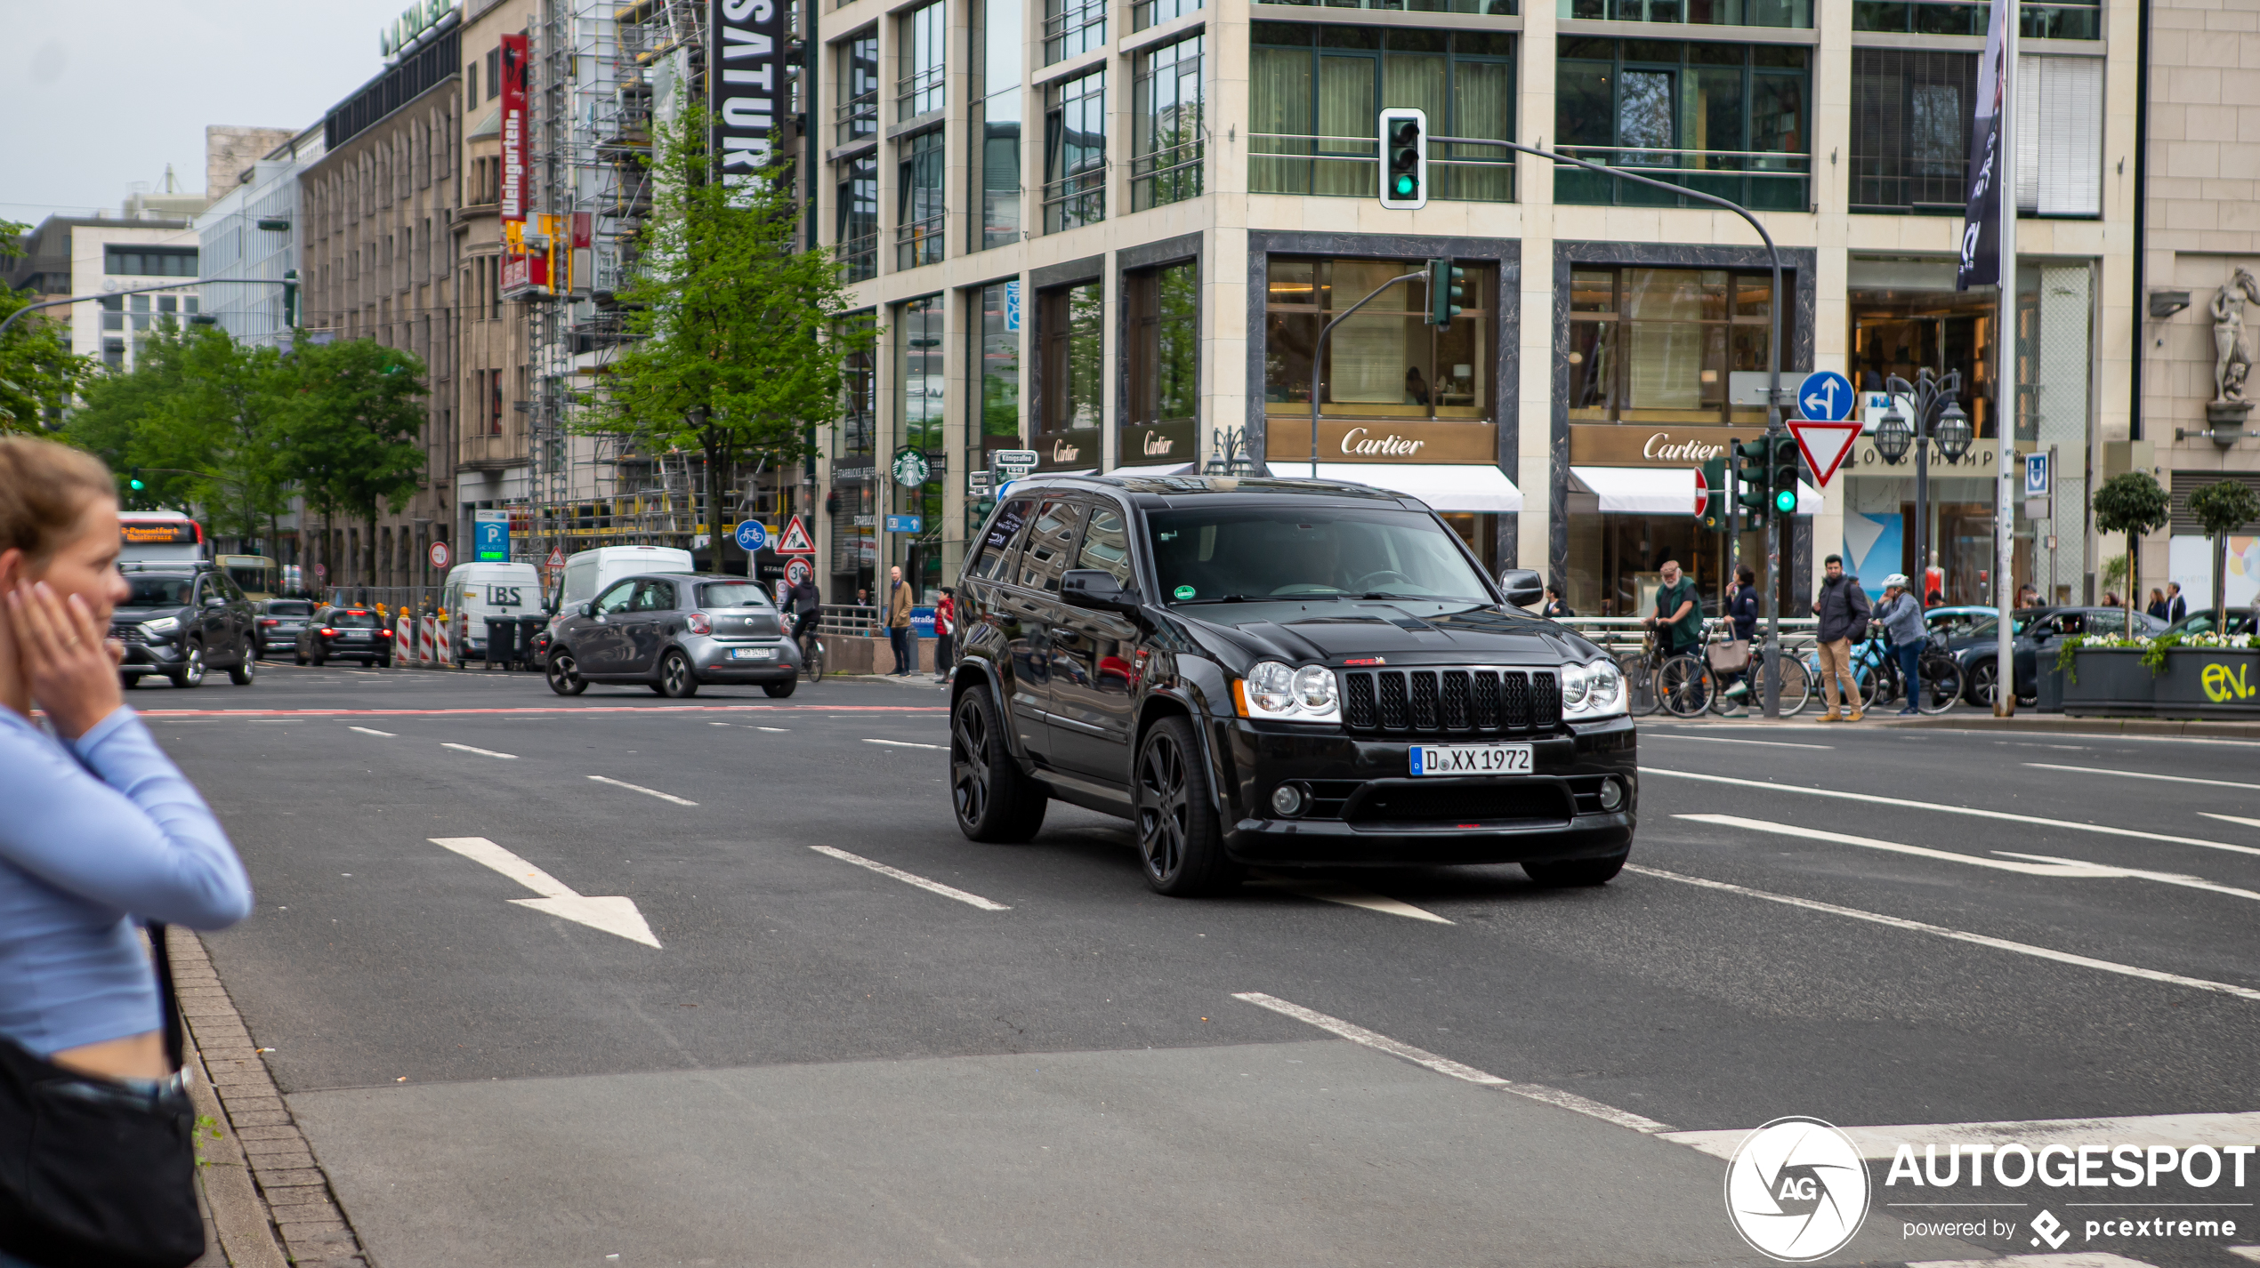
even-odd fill
[[[1512,34],[1254,23],[1250,38],[1252,192],[1376,197],[1388,106],[1426,111],[1433,136],[1514,136]],[[1428,197],[1510,201],[1503,154],[1431,142]]]

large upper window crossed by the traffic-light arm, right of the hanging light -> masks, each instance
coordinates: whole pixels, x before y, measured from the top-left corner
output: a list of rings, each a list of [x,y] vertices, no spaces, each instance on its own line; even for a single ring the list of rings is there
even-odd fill
[[[1679,41],[1559,43],[1564,154],[1763,210],[1810,208],[1810,50]],[[1555,201],[1695,206],[1600,172],[1555,172]]]

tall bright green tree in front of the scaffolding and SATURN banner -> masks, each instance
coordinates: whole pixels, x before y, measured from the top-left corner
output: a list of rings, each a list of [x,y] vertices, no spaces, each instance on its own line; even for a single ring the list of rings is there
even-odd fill
[[[719,561],[732,463],[805,457],[814,429],[841,416],[843,359],[868,350],[877,328],[838,321],[847,294],[829,251],[796,249],[800,210],[782,160],[707,179],[707,122],[689,111],[653,129],[653,212],[619,289],[635,341],[576,425],[705,454]]]

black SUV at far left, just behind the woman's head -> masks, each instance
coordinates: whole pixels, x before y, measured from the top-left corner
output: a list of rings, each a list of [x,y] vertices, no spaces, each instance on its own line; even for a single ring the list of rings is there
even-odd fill
[[[138,687],[160,674],[174,687],[201,687],[208,669],[249,687],[258,676],[251,599],[210,565],[124,565],[131,592],[111,613],[111,637],[127,649],[118,676]]]

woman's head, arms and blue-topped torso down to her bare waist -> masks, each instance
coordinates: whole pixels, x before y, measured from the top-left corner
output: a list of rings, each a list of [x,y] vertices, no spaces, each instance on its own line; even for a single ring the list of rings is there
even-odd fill
[[[88,454],[0,438],[0,1040],[79,1074],[163,1080],[136,924],[235,924],[251,881],[122,703],[106,640],[127,594],[115,488]]]

